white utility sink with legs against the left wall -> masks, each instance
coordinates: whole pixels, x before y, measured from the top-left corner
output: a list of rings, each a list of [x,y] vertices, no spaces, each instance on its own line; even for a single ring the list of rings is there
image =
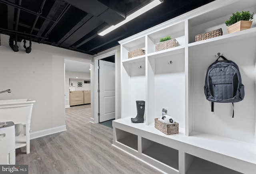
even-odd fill
[[[14,124],[26,125],[26,133],[16,136],[16,149],[26,146],[30,153],[30,119],[35,100],[16,99],[0,100],[0,122],[13,121]]]

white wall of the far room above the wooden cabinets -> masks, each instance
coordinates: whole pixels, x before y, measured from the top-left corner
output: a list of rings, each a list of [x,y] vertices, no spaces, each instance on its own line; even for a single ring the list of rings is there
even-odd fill
[[[79,80],[75,80],[74,78],[78,77]],[[72,79],[72,80],[70,80]],[[73,80],[74,79],[74,80]],[[76,72],[76,71],[65,71],[65,107],[70,107],[69,105],[69,86],[71,86],[71,81],[73,82],[73,86],[77,86],[77,82],[83,82],[83,88],[77,88],[76,90],[91,90],[91,84],[85,84],[84,80],[90,80],[90,73],[86,72]]]

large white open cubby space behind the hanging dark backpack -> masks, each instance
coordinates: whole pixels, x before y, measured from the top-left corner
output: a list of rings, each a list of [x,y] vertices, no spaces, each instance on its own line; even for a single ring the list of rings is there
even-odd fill
[[[194,46],[189,48],[189,59],[192,74],[189,111],[193,131],[218,135],[254,143],[255,139],[255,38],[239,39],[237,42],[222,43],[207,46]],[[218,51],[217,51],[218,50]],[[216,61],[217,52],[223,53],[226,59],[234,61],[240,69],[242,83],[245,86],[245,97],[241,102],[234,103],[234,118],[232,118],[232,103],[214,103],[214,112],[211,112],[211,102],[206,100],[203,86],[208,66]],[[200,67],[198,68],[198,63]],[[241,126],[241,121],[244,126]]]

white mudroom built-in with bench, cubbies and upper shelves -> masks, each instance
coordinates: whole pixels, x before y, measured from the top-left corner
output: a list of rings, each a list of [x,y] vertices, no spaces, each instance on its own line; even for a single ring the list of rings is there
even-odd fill
[[[256,13],[256,1],[216,0],[131,37],[121,47],[121,118],[113,121],[113,146],[168,174],[254,174],[256,171],[256,16],[250,29],[228,33],[232,13]],[[195,41],[216,29],[222,34]],[[176,47],[155,51],[160,38],[171,36]],[[128,58],[136,49],[144,55]],[[234,61],[244,84],[244,100],[206,100],[209,65],[218,55]],[[144,123],[132,123],[136,101],[145,101]],[[154,127],[167,108],[179,133]]]

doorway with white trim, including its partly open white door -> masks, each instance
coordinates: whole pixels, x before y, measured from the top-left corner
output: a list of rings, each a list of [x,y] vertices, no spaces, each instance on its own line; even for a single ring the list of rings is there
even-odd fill
[[[94,57],[94,123],[110,120],[111,127],[116,119],[116,53]]]

